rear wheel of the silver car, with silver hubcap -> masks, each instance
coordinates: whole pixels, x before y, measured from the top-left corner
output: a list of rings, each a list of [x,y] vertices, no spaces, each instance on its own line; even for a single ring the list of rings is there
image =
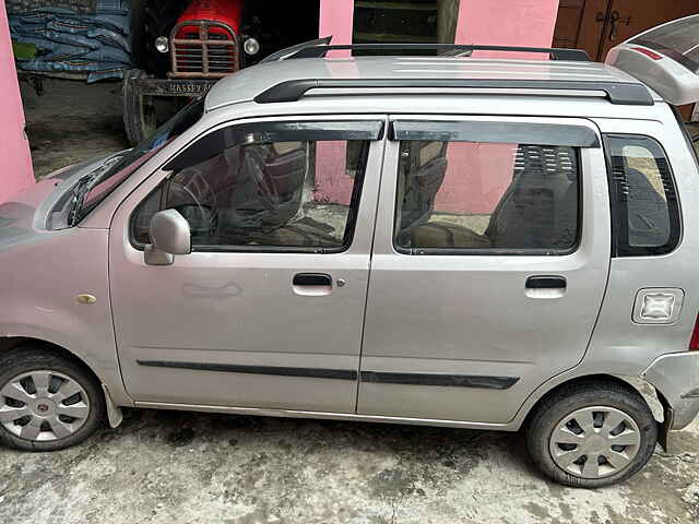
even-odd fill
[[[643,397],[611,381],[564,386],[536,406],[526,427],[534,463],[574,488],[629,478],[648,463],[656,442],[657,422]]]

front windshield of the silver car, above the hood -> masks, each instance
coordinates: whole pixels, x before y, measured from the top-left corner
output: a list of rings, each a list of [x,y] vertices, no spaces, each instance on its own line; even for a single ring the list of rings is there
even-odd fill
[[[79,199],[75,223],[94,210],[114,189],[145,164],[173,139],[191,128],[204,112],[204,97],[182,108],[177,115],[161,126],[145,141],[125,152],[122,156],[111,157],[106,168],[97,169],[90,179],[86,192]]]

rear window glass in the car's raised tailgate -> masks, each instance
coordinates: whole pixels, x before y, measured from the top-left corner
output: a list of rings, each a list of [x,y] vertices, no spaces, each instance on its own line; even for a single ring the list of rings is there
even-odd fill
[[[699,72],[699,15],[661,25],[629,40],[629,44],[654,49]]]

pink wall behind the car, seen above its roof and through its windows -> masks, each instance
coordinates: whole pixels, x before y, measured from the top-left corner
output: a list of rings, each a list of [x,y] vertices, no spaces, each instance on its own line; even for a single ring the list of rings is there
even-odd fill
[[[461,0],[455,44],[549,47],[558,0]],[[354,0],[321,0],[320,36],[334,35],[333,44],[352,41]],[[544,55],[479,52],[475,57],[534,58]],[[352,69],[351,61],[346,67]],[[450,144],[445,180],[437,195],[437,211],[489,213],[512,179],[511,144]],[[317,198],[346,200],[345,150],[339,143],[319,143]]]

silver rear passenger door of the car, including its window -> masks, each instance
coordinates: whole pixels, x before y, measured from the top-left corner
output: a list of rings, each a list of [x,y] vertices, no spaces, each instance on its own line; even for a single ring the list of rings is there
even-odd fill
[[[400,117],[387,143],[357,412],[506,424],[582,358],[609,266],[583,119]]]

